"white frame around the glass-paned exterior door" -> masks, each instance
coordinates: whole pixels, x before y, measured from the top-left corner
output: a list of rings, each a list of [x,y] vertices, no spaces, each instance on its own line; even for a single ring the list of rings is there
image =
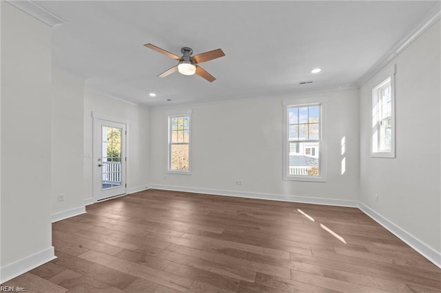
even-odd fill
[[[129,133],[129,122],[125,119],[120,119],[120,118],[114,118],[112,116],[107,116],[105,114],[99,113],[99,112],[95,112],[92,111],[91,112],[91,116],[92,116],[92,200],[93,202],[102,202],[105,201],[107,199],[112,199],[115,197],[121,197],[123,195],[127,195],[127,162],[129,162],[128,160],[128,155],[127,155],[127,146],[128,146],[128,139],[127,139],[127,135]],[[125,170],[123,170],[121,172],[121,184],[123,184],[123,180],[124,180],[124,186],[122,186],[124,188],[124,193],[120,194],[120,195],[114,195],[111,197],[107,197],[104,199],[99,199],[99,191],[97,189],[97,182],[96,180],[100,180],[101,182],[101,175],[100,177],[97,178],[96,176],[96,172],[95,172],[95,167],[98,164],[98,161],[96,160],[98,157],[98,154],[96,154],[96,138],[95,138],[95,125],[98,122],[98,120],[100,120],[100,124],[101,122],[115,122],[115,123],[119,123],[119,124],[125,124],[125,135],[124,135],[124,140],[123,140],[123,153],[121,153],[121,157],[125,158]],[[101,147],[101,143],[100,143],[100,147]],[[122,158],[121,158],[122,160]],[[101,188],[100,188],[101,190]]]

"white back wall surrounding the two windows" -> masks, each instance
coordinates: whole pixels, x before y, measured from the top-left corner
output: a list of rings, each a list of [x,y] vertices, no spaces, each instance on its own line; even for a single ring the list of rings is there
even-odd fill
[[[283,180],[282,103],[294,98],[325,101],[327,182]],[[358,90],[345,90],[152,109],[152,186],[304,202],[321,198],[322,203],[354,205],[359,178],[358,107]],[[185,109],[192,109],[192,174],[167,174],[167,115]],[[342,175],[343,136],[347,168]],[[236,180],[243,185],[236,186]]]

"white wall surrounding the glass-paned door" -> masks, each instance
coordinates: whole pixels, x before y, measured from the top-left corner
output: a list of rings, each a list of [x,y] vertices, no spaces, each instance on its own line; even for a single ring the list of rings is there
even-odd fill
[[[150,183],[150,110],[109,96],[85,91],[84,186],[86,204],[92,202],[92,111],[127,122],[127,192],[141,191]]]

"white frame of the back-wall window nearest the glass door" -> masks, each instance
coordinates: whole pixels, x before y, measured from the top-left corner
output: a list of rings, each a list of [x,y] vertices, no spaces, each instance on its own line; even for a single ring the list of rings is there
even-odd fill
[[[188,170],[174,170],[172,169],[172,145],[177,143],[172,143],[172,118],[177,117],[188,117],[188,129],[189,137],[188,143],[178,143],[178,144],[188,144]],[[192,111],[179,111],[178,113],[170,113],[167,116],[167,174],[181,174],[181,175],[191,175],[192,174]]]

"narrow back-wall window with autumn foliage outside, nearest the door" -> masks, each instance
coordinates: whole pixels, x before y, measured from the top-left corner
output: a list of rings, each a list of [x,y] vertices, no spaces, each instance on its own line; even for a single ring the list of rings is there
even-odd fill
[[[168,171],[190,171],[190,115],[168,118]]]

